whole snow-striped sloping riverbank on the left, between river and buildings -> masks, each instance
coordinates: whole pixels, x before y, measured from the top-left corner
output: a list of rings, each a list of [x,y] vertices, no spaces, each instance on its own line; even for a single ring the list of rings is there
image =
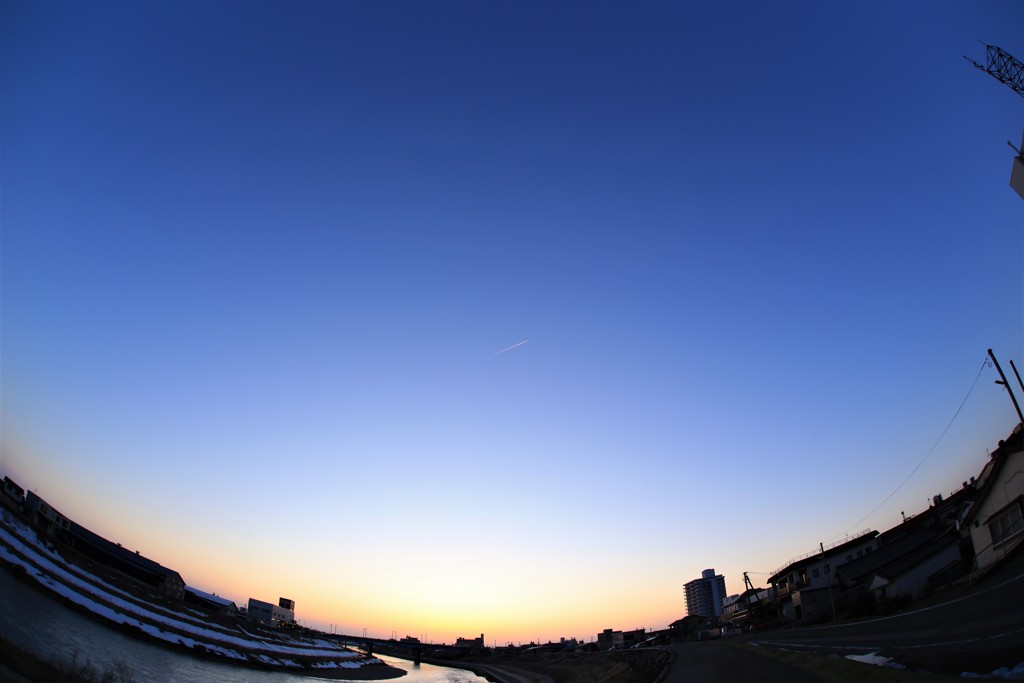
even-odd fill
[[[198,658],[332,679],[381,680],[406,673],[327,637],[262,630],[242,620],[214,623],[199,610],[126,591],[68,561],[6,511],[0,513],[0,563],[27,590],[46,592],[122,633]]]

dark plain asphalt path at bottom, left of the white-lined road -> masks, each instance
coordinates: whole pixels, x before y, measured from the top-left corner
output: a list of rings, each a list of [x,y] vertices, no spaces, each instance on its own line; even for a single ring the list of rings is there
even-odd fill
[[[806,671],[720,642],[670,645],[672,664],[660,683],[820,683]]]

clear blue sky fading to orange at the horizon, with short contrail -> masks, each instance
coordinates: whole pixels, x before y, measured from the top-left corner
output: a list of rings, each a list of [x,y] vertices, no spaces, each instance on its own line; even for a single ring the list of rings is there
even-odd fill
[[[191,586],[660,629],[1018,422],[1018,2],[0,7],[0,473]]]

